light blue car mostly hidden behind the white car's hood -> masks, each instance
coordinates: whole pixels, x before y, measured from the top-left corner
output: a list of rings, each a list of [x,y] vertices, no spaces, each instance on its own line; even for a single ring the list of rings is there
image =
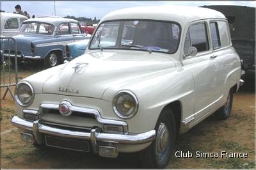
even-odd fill
[[[67,60],[70,61],[78,56],[84,54],[88,45],[89,39],[82,40],[79,42],[72,42],[66,45],[66,56]]]

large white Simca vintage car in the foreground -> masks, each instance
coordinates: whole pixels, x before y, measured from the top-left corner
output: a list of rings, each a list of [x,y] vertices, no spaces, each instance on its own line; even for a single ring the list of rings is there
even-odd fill
[[[222,13],[128,8],[100,21],[84,55],[20,81],[12,123],[38,148],[140,151],[144,167],[163,168],[177,134],[230,116],[241,82]]]

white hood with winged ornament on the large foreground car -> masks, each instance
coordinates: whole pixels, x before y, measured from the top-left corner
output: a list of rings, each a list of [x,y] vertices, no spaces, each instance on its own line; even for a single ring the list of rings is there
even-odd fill
[[[174,61],[157,52],[91,52],[54,73],[45,81],[43,93],[102,98],[108,88],[125,88],[174,67]]]

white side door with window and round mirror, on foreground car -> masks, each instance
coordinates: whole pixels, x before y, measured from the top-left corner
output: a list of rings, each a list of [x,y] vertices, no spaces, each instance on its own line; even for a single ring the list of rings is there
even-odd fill
[[[195,56],[189,55],[191,47],[195,47]],[[209,27],[207,21],[191,24],[186,32],[183,48],[184,69],[191,72],[195,81],[195,121],[207,116],[212,112],[214,102],[218,100],[214,91],[216,90],[216,74],[212,52],[209,43]]]

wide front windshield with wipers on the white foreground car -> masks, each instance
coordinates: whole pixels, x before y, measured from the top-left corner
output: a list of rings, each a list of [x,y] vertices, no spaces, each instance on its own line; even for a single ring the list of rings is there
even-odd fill
[[[111,21],[100,24],[90,49],[132,49],[176,52],[180,27],[173,22],[154,20]]]

